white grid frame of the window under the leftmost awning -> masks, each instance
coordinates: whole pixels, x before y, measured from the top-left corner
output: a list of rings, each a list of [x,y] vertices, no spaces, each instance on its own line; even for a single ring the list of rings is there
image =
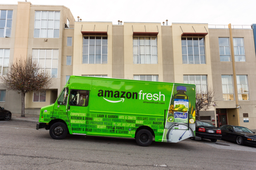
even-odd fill
[[[84,45],[84,37],[88,37],[88,45]],[[89,63],[90,62],[90,37],[95,37],[95,44],[94,44],[94,63]],[[101,37],[101,63],[96,63],[96,37]],[[102,45],[102,37],[107,37],[107,45]],[[107,55],[107,59],[108,59],[108,36],[97,36],[97,35],[84,35],[82,37],[82,64],[107,64],[106,63],[102,63],[102,55]],[[84,54],[84,46],[88,46],[88,54]],[[102,54],[102,46],[107,46],[107,54]],[[83,59],[83,55],[88,55],[88,62],[84,63],[84,59]]]

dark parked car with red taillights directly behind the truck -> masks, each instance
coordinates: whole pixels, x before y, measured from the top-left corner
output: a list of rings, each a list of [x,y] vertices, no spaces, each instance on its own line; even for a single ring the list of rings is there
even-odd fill
[[[196,136],[216,142],[218,139],[221,139],[221,130],[215,127],[211,122],[196,120]],[[192,140],[194,140],[194,138],[192,138]]]

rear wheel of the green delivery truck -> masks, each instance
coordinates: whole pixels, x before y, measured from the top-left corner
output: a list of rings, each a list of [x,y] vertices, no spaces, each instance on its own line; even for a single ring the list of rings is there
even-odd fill
[[[149,130],[142,129],[136,134],[136,142],[140,146],[149,146],[153,141],[153,135]]]

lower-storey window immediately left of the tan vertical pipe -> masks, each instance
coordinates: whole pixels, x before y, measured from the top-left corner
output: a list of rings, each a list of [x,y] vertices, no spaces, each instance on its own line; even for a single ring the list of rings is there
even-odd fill
[[[232,75],[221,75],[223,100],[234,100]]]

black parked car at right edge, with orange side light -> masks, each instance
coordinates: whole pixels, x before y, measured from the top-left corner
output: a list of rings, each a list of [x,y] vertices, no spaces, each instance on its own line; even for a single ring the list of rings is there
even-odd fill
[[[220,127],[222,139],[231,140],[238,145],[256,145],[256,134],[246,127],[223,125]]]

